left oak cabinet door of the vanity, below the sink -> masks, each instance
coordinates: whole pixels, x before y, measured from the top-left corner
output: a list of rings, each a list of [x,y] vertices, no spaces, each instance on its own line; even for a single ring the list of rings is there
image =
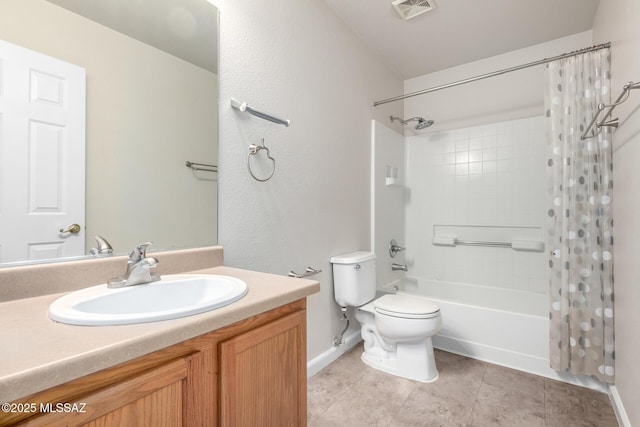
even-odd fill
[[[90,395],[52,403],[50,412],[29,420],[27,426],[175,427],[190,422],[188,376],[192,357],[181,358]],[[61,412],[56,412],[57,410]],[[46,411],[45,411],[46,412]]]

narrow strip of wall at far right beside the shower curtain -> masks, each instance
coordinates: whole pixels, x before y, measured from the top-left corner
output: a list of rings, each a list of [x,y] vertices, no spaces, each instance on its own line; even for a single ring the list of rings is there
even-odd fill
[[[601,1],[593,26],[594,43],[611,41],[612,99],[629,81],[640,81],[640,2]],[[640,90],[616,108],[614,138],[616,384],[631,425],[640,425]]]

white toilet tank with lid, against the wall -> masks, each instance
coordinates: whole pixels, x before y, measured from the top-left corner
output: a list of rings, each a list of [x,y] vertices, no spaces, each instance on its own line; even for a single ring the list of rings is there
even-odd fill
[[[351,252],[331,257],[333,291],[341,307],[359,307],[376,296],[376,255]]]

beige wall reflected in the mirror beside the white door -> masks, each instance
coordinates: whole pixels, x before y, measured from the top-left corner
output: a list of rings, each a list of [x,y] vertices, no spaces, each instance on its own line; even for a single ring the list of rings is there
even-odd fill
[[[87,70],[87,249],[217,241],[216,176],[184,165],[217,163],[215,74],[44,0],[3,0],[0,38]]]

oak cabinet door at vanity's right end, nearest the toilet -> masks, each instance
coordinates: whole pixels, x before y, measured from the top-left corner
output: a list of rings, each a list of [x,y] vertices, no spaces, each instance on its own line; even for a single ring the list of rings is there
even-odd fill
[[[220,345],[220,425],[307,425],[306,311]]]

